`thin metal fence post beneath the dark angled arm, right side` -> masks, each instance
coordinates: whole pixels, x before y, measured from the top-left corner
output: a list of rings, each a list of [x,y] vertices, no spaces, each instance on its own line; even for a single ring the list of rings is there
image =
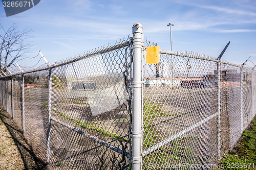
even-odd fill
[[[217,63],[218,70],[218,84],[217,84],[217,98],[218,98],[218,116],[217,116],[217,159],[220,162],[220,150],[221,150],[221,63]]]

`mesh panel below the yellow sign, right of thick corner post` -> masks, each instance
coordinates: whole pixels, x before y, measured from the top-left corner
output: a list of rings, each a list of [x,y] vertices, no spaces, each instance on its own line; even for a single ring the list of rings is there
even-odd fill
[[[144,65],[143,169],[216,162],[216,70],[215,62],[179,54]]]

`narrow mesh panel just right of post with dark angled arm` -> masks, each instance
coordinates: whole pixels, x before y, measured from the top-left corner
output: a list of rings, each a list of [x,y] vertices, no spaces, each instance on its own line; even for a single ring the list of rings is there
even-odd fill
[[[221,114],[222,122],[228,117],[222,125],[223,149],[232,149],[241,136],[241,68],[228,64],[221,65]]]

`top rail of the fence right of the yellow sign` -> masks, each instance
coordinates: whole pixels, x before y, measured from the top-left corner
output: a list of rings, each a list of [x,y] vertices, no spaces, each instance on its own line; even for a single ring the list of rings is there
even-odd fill
[[[220,63],[223,63],[223,64],[228,64],[228,65],[236,66],[236,67],[239,67],[239,68],[246,68],[246,67],[244,67],[244,66],[237,65],[237,64],[233,64],[233,63],[229,63],[229,62],[226,62],[226,61],[217,60],[217,59],[211,59],[211,58],[206,58],[206,57],[197,56],[197,55],[193,55],[193,54],[184,54],[184,53],[172,52],[172,51],[161,50],[161,49],[160,49],[160,53],[161,53],[161,54],[168,54],[168,55],[181,56],[181,57],[187,57],[187,58],[195,58],[195,59],[200,59],[200,60],[207,60],[207,61],[220,62]],[[248,69],[249,69],[249,68],[248,68]]]

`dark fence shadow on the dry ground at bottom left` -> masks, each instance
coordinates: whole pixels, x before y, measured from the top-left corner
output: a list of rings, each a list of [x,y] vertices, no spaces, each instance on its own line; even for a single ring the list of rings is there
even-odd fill
[[[19,130],[12,118],[9,117],[9,114],[3,109],[3,106],[0,107],[0,119],[6,126],[17,146],[20,157],[24,163],[24,169],[46,169],[46,164],[36,157],[31,145],[28,144],[28,141],[25,139],[22,131]]]

